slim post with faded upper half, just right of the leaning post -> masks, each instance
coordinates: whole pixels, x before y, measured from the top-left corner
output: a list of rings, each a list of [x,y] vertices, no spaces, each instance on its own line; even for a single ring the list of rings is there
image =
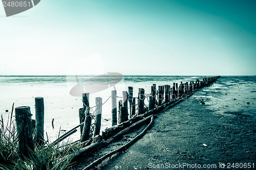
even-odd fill
[[[99,135],[101,126],[101,112],[102,112],[102,98],[95,99],[96,109],[95,109],[95,124],[93,136]]]

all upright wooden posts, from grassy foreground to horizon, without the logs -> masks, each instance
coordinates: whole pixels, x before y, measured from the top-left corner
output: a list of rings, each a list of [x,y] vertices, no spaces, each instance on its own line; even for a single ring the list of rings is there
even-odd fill
[[[173,83],[173,86],[163,85],[158,86],[156,89],[156,84],[151,86],[151,93],[145,95],[143,88],[139,88],[139,93],[137,96],[138,112],[136,113],[136,98],[133,96],[133,87],[129,86],[128,91],[122,91],[122,100],[118,101],[117,107],[117,91],[113,90],[111,93],[112,98],[112,126],[116,126],[117,123],[122,124],[123,122],[129,120],[136,115],[143,114],[148,110],[152,110],[157,106],[164,103],[168,103],[177,98],[186,98],[186,95],[196,89],[208,86],[215,82],[219,77],[204,78],[202,81],[199,79],[188,82]],[[148,106],[144,107],[144,100],[148,99]],[[101,112],[102,112],[102,98],[96,98],[95,106],[95,123],[93,130],[93,137],[100,134],[101,127]],[[60,136],[53,143],[63,140],[69,134],[76,132],[76,128],[80,127],[81,142],[87,141],[91,134],[91,124],[92,115],[90,113],[89,104],[89,93],[82,94],[83,107],[79,109],[79,120],[80,124],[67,132],[66,134]],[[128,108],[129,103],[129,108]],[[118,108],[118,110],[117,110]],[[129,110],[128,110],[129,109]],[[119,121],[117,121],[117,113],[119,113]],[[130,116],[129,116],[130,115]],[[29,157],[30,150],[34,151],[34,142],[38,145],[43,145],[45,143],[44,139],[44,99],[35,98],[35,120],[31,119],[31,112],[29,106],[16,107],[15,108],[15,118],[17,126],[17,135],[19,138],[19,152],[25,157]],[[33,135],[34,134],[34,135]],[[52,144],[53,144],[52,143]]]

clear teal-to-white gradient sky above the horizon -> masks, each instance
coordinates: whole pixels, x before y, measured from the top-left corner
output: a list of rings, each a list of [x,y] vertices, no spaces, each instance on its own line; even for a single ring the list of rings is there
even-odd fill
[[[6,17],[0,75],[256,75],[256,1],[41,0]]]

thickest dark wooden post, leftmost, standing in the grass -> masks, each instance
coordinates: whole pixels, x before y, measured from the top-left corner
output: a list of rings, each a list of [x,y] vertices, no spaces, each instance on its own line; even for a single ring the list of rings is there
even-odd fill
[[[15,118],[17,126],[17,135],[19,139],[19,155],[21,157],[29,158],[30,154],[34,152],[30,107],[16,107]]]

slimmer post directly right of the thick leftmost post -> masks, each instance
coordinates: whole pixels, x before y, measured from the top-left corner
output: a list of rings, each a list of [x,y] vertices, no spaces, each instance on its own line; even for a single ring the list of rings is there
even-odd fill
[[[44,143],[44,119],[45,119],[45,107],[44,98],[35,98],[35,141],[42,145]]]

